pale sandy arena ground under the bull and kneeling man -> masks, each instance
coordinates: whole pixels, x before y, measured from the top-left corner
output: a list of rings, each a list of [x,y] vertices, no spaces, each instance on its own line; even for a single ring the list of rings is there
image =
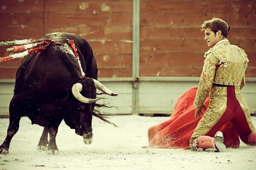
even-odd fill
[[[31,125],[27,117],[13,137],[9,155],[0,155],[0,170],[255,170],[256,147],[241,143],[225,153],[213,150],[143,148],[147,130],[168,117],[113,116],[118,127],[93,118],[93,143],[85,145],[64,122],[56,138],[60,155],[37,150],[43,127]],[[256,117],[252,117],[256,125]],[[9,119],[0,119],[0,143],[6,136]]]

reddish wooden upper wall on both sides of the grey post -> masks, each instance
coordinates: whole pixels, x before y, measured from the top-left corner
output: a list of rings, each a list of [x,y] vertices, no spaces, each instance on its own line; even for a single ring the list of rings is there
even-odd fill
[[[99,77],[132,76],[132,0],[0,0],[0,7],[0,41],[80,34]],[[256,77],[255,0],[140,0],[140,76],[199,77],[208,49],[201,23],[212,17],[229,23],[230,42],[250,59],[246,75]],[[19,63],[0,63],[0,79],[15,78]]]

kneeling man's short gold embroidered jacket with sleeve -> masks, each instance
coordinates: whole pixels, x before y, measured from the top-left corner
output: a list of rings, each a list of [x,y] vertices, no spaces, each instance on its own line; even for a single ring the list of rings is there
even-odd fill
[[[204,68],[200,77],[195,106],[202,106],[209,95],[212,83],[221,85],[244,86],[244,72],[247,67],[247,54],[228,40],[217,43],[204,55]],[[216,70],[216,68],[218,69]]]

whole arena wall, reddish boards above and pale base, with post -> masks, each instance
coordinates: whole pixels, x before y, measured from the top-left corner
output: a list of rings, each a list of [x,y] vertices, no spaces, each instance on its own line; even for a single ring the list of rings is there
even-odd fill
[[[256,113],[255,0],[1,0],[0,41],[70,32],[92,46],[99,80],[119,93],[113,114],[171,114],[177,97],[197,86],[208,50],[204,20],[230,25],[229,40],[250,60],[244,97]],[[0,46],[0,57],[6,48]],[[0,63],[0,114],[8,114],[21,59]]]

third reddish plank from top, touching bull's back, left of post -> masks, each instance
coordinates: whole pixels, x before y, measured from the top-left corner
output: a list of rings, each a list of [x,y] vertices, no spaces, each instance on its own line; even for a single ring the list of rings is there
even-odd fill
[[[78,24],[70,27],[47,28],[50,32],[75,32],[84,39],[132,40],[131,26],[90,26]]]

